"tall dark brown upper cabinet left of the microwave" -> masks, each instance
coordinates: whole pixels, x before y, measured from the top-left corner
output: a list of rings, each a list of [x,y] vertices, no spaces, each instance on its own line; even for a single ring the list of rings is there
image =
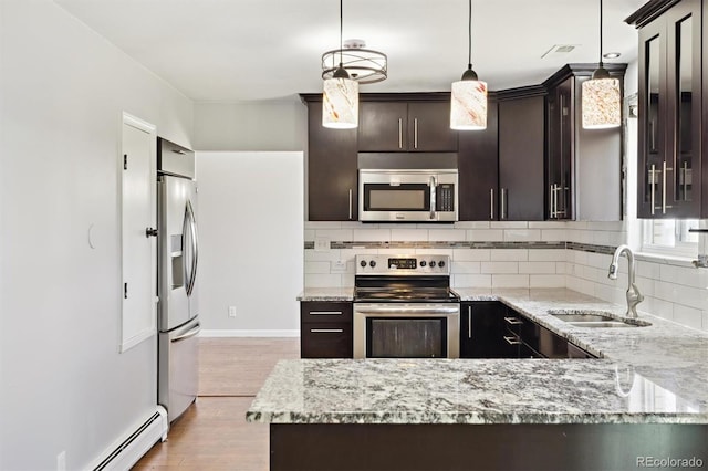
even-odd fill
[[[322,95],[303,94],[308,106],[308,220],[358,220],[356,129],[322,126]]]

